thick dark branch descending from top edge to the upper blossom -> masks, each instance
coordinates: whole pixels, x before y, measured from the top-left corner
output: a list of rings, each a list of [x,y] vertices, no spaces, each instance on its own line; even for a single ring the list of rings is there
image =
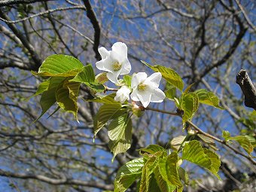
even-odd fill
[[[97,20],[96,14],[93,11],[92,6],[90,5],[90,0],[83,0],[85,7],[87,8],[87,17],[90,19],[90,23],[93,24],[94,29],[94,44],[93,44],[93,50],[95,52],[95,58],[97,60],[101,59],[101,56],[98,51],[99,47],[99,40],[100,40],[100,27],[99,22]]]

